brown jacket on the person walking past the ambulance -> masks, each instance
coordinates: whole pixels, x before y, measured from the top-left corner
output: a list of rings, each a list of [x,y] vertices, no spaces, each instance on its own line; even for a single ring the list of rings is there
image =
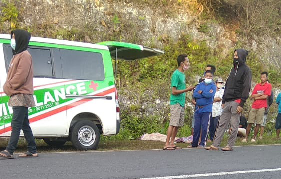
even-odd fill
[[[7,96],[33,94],[32,57],[27,50],[13,55],[3,89]]]

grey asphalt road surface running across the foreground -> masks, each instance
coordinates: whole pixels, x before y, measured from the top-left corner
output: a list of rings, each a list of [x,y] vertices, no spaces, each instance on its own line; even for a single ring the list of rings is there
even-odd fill
[[[17,158],[15,154],[15,157],[0,159],[0,179],[281,178],[281,169],[276,169],[281,168],[281,145],[235,147],[229,152],[204,149],[94,151],[40,153],[39,158]],[[256,172],[267,169],[276,171]],[[233,171],[240,173],[221,173]],[[210,173],[217,175],[206,175]]]

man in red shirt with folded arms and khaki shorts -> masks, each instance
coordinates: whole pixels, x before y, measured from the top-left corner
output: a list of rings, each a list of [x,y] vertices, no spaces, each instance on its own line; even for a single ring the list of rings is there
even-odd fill
[[[271,95],[272,88],[271,84],[267,83],[267,78],[268,73],[266,71],[262,72],[260,75],[261,82],[257,83],[253,88],[251,94],[251,97],[253,98],[253,103],[251,106],[251,111],[249,113],[246,137],[242,140],[243,142],[247,142],[251,125],[256,123],[254,134],[251,139],[251,142],[255,142],[255,137],[259,130],[260,124],[263,122],[263,115],[265,109],[267,108],[267,97]]]

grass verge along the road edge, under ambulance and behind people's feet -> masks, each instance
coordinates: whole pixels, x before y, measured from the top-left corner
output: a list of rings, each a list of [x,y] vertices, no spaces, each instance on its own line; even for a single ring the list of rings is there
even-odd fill
[[[224,135],[221,145],[226,146],[227,144],[227,135]],[[274,139],[275,136],[264,136],[262,140],[256,140],[253,142],[242,142],[241,138],[236,139],[235,146],[244,146],[244,145],[270,145],[270,144],[281,144],[281,140]],[[249,138],[250,139],[250,138]],[[4,150],[8,143],[8,138],[0,138],[0,150]],[[55,148],[48,146],[42,139],[36,139],[37,150],[38,152],[73,152],[79,151],[72,146],[71,142],[66,142],[62,147]],[[211,142],[208,142],[207,145],[210,145]],[[186,148],[187,143],[177,143],[179,147]],[[142,140],[101,140],[99,142],[98,148],[96,150],[90,151],[119,151],[119,150],[145,150],[145,149],[162,149],[164,146],[163,142],[159,141],[142,141]],[[18,146],[15,153],[25,152],[27,148],[27,143],[24,138],[19,139]]]

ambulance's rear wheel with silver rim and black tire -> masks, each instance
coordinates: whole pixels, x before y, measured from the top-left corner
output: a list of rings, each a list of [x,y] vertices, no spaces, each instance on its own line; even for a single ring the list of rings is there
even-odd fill
[[[96,149],[99,142],[99,129],[90,120],[81,120],[74,124],[71,129],[71,142],[80,150]]]

